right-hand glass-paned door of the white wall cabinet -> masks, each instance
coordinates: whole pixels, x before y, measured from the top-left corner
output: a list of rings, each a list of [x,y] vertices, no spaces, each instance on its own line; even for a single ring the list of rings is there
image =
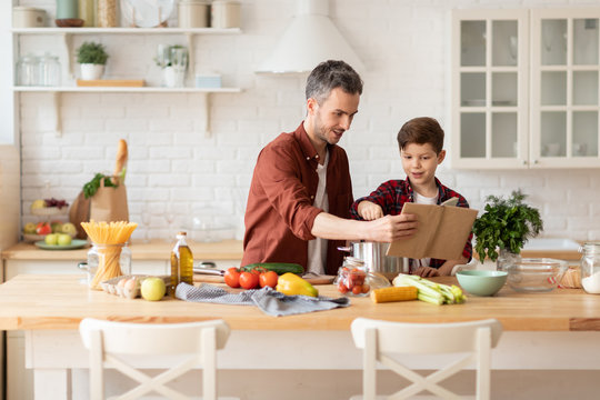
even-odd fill
[[[532,12],[534,167],[600,167],[599,17],[600,9]]]

